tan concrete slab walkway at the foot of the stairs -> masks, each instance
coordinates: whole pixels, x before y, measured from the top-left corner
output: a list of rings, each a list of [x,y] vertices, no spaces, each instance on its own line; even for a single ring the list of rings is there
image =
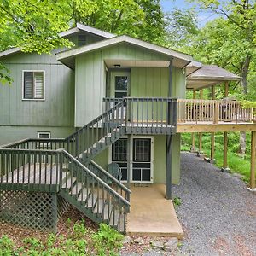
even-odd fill
[[[172,201],[165,199],[166,186],[131,184],[131,212],[127,218],[127,235],[170,236],[183,238]]]

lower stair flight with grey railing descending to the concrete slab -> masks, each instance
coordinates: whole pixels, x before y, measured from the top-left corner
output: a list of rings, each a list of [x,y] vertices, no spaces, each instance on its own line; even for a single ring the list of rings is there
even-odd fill
[[[126,216],[130,211],[130,202],[119,195],[104,179],[98,177],[90,169],[83,166],[73,155],[63,151],[62,165],[69,165],[69,174],[61,178],[61,189],[64,189],[68,196],[79,207],[84,207],[96,216],[100,221],[107,222],[119,232],[125,233]],[[63,172],[61,172],[63,177]],[[74,184],[70,188],[70,184]],[[131,191],[125,188],[127,194]],[[67,197],[68,198],[68,197]]]

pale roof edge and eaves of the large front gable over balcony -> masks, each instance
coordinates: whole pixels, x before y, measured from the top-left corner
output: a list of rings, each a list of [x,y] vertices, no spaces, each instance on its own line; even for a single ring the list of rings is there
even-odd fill
[[[162,47],[156,44],[151,44],[143,40],[131,38],[125,35],[115,37],[115,38],[109,38],[107,40],[103,40],[95,44],[88,44],[77,49],[70,49],[70,50],[58,53],[57,60],[67,65],[67,67],[74,68],[76,56],[88,53],[93,50],[103,49],[109,46],[122,44],[122,43],[132,44],[132,45],[141,47],[143,49],[153,50],[154,52],[157,52],[162,55],[167,55],[170,57],[170,59],[173,59],[174,67],[183,68],[187,66],[189,62],[193,61],[193,58],[191,55],[186,55],[181,52],[175,51],[173,49],[167,49],[165,47]]]

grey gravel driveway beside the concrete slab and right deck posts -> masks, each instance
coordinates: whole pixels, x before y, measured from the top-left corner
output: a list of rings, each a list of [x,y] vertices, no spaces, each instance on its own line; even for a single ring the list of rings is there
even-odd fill
[[[195,154],[182,154],[181,169],[172,195],[186,235],[177,254],[256,255],[256,194]]]

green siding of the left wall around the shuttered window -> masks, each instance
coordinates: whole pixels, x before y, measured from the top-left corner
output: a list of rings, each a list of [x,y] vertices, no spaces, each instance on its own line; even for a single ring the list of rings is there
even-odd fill
[[[13,83],[0,84],[0,125],[73,126],[73,71],[55,55],[17,53],[2,59]],[[22,70],[45,71],[45,101],[22,101]]]

